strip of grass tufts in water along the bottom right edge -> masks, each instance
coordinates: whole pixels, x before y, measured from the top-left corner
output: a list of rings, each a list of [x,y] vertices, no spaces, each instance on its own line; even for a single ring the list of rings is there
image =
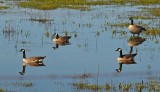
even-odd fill
[[[118,83],[117,83],[118,84]],[[150,82],[144,83],[143,81],[137,82],[137,83],[119,83],[119,88],[116,88],[117,85],[112,85],[111,83],[106,83],[105,85],[96,85],[96,84],[89,84],[86,82],[79,82],[79,83],[73,83],[73,87],[81,90],[106,90],[106,91],[112,91],[112,90],[123,90],[123,92],[129,92],[130,90],[134,90],[136,92],[142,92],[142,91],[160,91],[160,82],[157,82],[155,80],[151,80]]]

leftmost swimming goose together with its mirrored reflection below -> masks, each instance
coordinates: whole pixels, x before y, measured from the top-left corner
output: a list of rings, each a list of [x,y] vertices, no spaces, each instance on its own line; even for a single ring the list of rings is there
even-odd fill
[[[26,68],[27,65],[30,65],[30,66],[45,66],[43,64],[43,59],[46,56],[37,56],[37,57],[26,58],[25,49],[21,49],[20,52],[23,52],[23,69],[22,69],[22,72],[19,72],[21,75],[25,74],[25,68]]]

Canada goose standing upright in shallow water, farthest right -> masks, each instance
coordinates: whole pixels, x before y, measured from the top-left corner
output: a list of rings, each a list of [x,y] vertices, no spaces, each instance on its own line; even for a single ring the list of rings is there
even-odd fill
[[[133,24],[133,17],[130,17],[129,20],[131,20],[131,24],[128,26],[128,30],[133,34],[139,34],[144,30],[146,30],[144,27]]]

